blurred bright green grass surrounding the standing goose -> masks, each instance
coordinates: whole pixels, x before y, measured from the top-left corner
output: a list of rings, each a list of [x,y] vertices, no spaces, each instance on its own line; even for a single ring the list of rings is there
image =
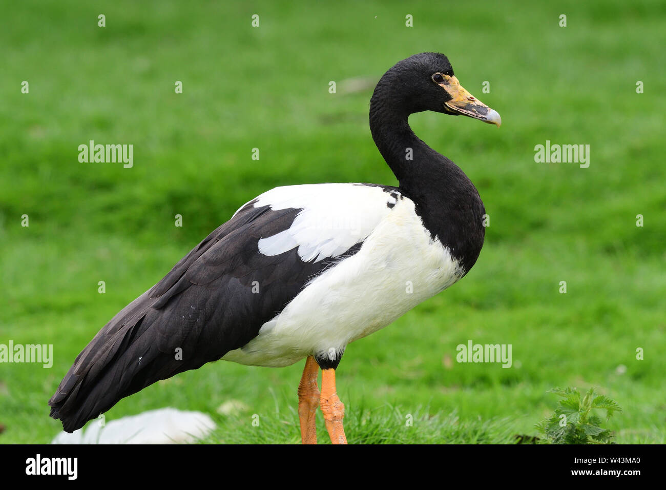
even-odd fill
[[[370,137],[372,86],[439,51],[503,125],[410,123],[474,181],[490,227],[463,281],[348,347],[350,442],[510,441],[555,407],[547,389],[595,385],[624,409],[608,424],[618,442],[663,443],[665,20],[657,0],[5,5],[0,343],[52,343],[55,361],[0,365],[0,442],[50,441],[61,426],[47,401],[77,353],[246,201],[278,185],[395,185]],[[340,90],[359,77],[366,88]],[[132,143],[134,167],[79,163],[91,139]],[[589,144],[589,168],[535,163],[546,140]],[[468,339],[512,344],[513,367],[456,363]],[[107,420],[171,406],[210,413],[208,442],[296,442],[301,370],[212,363]]]

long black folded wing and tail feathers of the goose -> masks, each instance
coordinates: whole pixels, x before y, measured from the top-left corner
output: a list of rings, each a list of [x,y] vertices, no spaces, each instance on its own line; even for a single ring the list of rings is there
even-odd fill
[[[339,260],[304,262],[297,249],[263,255],[258,240],[288,229],[300,209],[274,211],[253,203],[210,233],[81,351],[49,401],[51,417],[61,419],[65,431],[83,427],[155,381],[242,347],[314,275]]]

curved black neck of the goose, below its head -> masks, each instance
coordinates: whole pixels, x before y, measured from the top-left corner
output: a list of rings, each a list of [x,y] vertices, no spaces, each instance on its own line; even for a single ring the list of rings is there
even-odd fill
[[[370,101],[372,138],[400,189],[416,203],[431,237],[448,247],[467,273],[484,243],[484,204],[460,167],[414,134],[408,116],[375,93]]]

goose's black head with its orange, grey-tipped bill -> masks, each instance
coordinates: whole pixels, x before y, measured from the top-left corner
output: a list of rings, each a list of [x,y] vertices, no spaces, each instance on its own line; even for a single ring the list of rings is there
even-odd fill
[[[375,87],[373,103],[388,103],[404,116],[434,111],[501,124],[496,111],[460,85],[448,58],[440,53],[420,53],[396,63]]]

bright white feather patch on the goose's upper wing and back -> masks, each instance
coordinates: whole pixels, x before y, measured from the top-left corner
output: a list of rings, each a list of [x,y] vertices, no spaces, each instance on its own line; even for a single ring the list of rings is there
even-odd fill
[[[264,255],[298,247],[303,261],[338,257],[364,241],[398,203],[398,191],[358,184],[276,187],[257,197],[254,207],[301,209],[291,227],[259,240]]]

